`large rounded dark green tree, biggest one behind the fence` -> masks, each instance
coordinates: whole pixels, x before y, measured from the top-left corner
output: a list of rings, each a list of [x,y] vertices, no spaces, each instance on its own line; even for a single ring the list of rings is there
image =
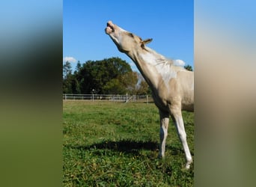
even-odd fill
[[[121,58],[86,61],[77,72],[77,80],[81,93],[94,90],[100,94],[127,93],[135,82],[131,67]]]

